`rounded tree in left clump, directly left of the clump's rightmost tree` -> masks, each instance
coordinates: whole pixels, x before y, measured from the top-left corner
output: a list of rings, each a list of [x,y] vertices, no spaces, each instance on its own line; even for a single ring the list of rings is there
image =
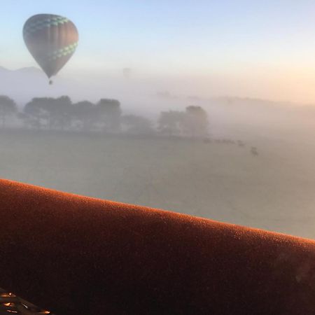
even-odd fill
[[[78,102],[73,104],[72,115],[81,130],[91,130],[97,122],[97,106],[89,101]]]

